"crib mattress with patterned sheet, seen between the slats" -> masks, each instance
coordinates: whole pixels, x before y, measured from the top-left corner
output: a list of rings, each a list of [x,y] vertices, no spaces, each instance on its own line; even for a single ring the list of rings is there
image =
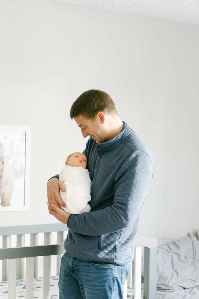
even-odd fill
[[[50,278],[50,299],[59,299],[59,289],[58,289],[59,276],[52,276]],[[34,291],[33,298],[42,299],[42,283],[43,278],[34,278]],[[7,281],[0,282],[0,299],[7,299]],[[132,295],[127,295],[128,299],[132,299]],[[26,299],[26,281],[23,279],[18,279],[16,281],[16,299],[23,298]]]

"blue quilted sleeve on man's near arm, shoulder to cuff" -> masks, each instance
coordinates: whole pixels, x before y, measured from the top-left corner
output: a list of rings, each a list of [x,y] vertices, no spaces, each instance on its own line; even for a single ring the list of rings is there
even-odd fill
[[[132,225],[146,199],[153,165],[143,151],[135,151],[115,176],[113,204],[84,215],[70,215],[67,226],[84,235],[102,235]]]

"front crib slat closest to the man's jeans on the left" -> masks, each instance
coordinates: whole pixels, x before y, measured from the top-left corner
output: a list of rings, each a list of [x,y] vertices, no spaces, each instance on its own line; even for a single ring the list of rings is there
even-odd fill
[[[51,256],[45,256],[43,260],[43,299],[50,299],[50,268]]]

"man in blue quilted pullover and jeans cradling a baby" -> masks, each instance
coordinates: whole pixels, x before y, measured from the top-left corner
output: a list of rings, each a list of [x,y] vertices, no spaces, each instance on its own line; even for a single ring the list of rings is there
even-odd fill
[[[60,299],[121,299],[133,259],[141,207],[153,176],[149,149],[123,122],[111,97],[100,90],[81,94],[71,119],[90,136],[84,154],[90,172],[91,212],[69,214],[58,176],[47,184],[49,213],[67,224],[59,276]]]

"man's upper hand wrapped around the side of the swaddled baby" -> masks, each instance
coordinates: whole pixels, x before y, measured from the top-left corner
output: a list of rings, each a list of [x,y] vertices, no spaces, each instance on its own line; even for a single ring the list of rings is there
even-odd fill
[[[52,204],[56,205],[60,208],[60,205],[63,208],[66,208],[65,203],[61,200],[60,190],[65,192],[65,185],[63,182],[58,181],[56,178],[52,178],[47,183],[47,197],[48,197],[48,209],[54,211],[55,209],[52,208]],[[65,212],[65,211],[64,211]],[[49,212],[50,213],[50,212]]]

